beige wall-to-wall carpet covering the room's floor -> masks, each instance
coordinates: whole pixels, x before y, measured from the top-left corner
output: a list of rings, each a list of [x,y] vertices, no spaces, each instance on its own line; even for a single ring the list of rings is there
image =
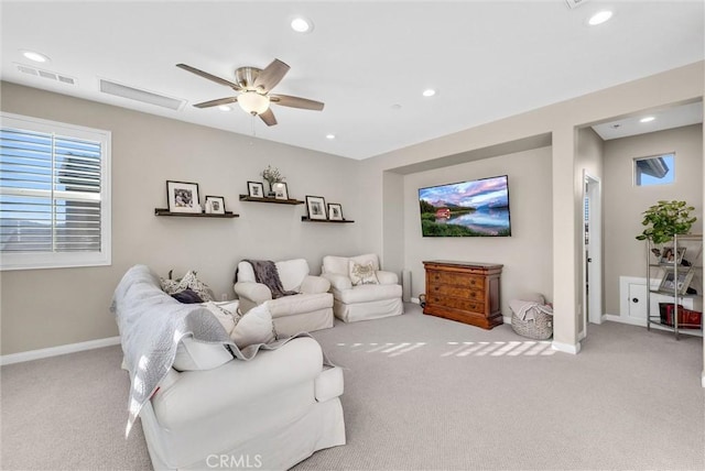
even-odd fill
[[[702,339],[607,322],[570,355],[406,308],[314,332],[346,368],[348,443],[295,470],[705,469]],[[2,469],[150,469],[120,360],[3,366]]]

